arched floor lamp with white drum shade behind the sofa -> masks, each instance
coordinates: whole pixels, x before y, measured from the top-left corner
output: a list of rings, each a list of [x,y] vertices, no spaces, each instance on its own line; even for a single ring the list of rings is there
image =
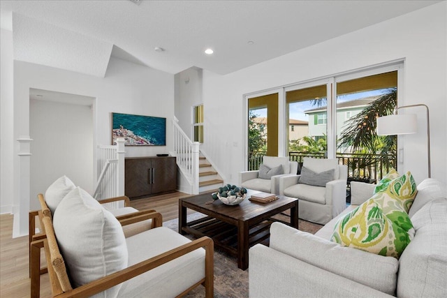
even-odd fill
[[[430,117],[427,105],[404,105],[397,107],[393,115],[377,118],[377,135],[406,135],[417,133],[416,114],[397,114],[397,110],[404,107],[425,107],[427,110],[427,156],[428,156],[428,177],[432,176],[430,168]]]

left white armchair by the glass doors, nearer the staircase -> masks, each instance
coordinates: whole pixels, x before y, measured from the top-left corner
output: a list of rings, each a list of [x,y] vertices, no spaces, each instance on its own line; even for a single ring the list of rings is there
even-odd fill
[[[270,179],[262,179],[258,177],[259,171],[240,172],[240,185],[244,188],[254,189],[255,191],[279,195],[279,177],[296,175],[298,171],[298,163],[296,161],[289,161],[287,156],[263,156],[263,165],[270,169],[282,165],[282,174],[274,175]]]

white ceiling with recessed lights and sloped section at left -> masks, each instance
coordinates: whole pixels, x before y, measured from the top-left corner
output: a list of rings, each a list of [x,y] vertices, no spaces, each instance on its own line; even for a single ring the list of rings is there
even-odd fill
[[[227,74],[437,2],[1,0],[0,8],[14,59],[103,77],[110,54],[173,74],[191,66]]]

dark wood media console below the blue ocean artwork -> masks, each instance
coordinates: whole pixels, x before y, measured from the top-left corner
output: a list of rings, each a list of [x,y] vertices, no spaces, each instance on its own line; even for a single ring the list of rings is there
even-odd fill
[[[124,163],[124,194],[129,198],[170,193],[177,188],[177,163],[173,156],[131,157]]]

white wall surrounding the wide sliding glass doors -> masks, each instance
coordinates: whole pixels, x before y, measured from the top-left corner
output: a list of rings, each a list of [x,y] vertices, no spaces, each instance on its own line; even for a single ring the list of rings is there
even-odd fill
[[[237,183],[244,170],[243,94],[405,59],[400,105],[430,107],[432,177],[446,181],[446,6],[443,1],[228,75],[204,70],[204,150]],[[229,107],[232,119],[216,117]],[[423,110],[418,119],[420,133],[400,138],[405,152],[398,167],[411,170],[416,182],[427,177]]]

